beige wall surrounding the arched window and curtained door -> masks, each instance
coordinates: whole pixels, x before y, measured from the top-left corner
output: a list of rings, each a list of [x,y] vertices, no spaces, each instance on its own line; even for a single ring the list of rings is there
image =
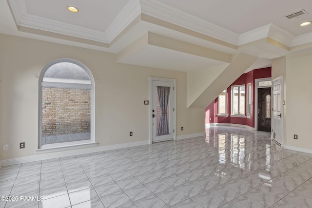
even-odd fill
[[[64,57],[85,64],[98,80],[98,146],[148,140],[149,108],[143,101],[149,98],[149,76],[176,79],[177,135],[205,131],[204,109],[187,109],[187,73],[120,64],[115,54],[0,35],[0,160],[34,155],[38,147],[38,76],[47,63]],[[19,149],[20,142],[25,142],[25,149]],[[9,144],[9,151],[2,150],[3,144]]]

